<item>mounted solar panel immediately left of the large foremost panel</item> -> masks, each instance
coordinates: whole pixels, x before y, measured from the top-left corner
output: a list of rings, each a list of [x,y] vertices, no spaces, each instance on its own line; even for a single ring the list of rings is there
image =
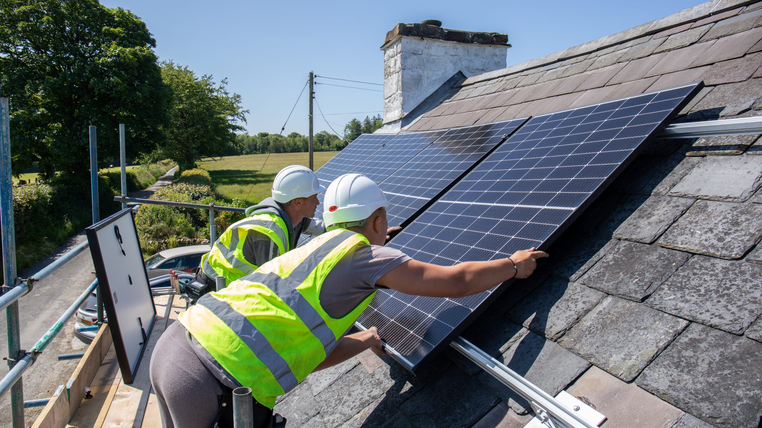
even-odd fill
[[[528,117],[453,128],[383,180],[386,219],[399,226],[510,136]]]

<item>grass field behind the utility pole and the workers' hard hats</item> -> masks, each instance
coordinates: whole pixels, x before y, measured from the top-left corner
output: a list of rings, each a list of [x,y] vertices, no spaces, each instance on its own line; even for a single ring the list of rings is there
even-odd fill
[[[338,152],[315,152],[315,170],[336,153]],[[288,165],[309,165],[308,153],[273,153],[267,158],[267,163],[264,163],[265,158],[267,155],[226,156],[222,160],[207,158],[199,161],[198,165],[209,171],[215,192],[223,199],[240,198],[255,204],[271,196],[273,179],[278,171]],[[258,174],[260,168],[262,171]]]

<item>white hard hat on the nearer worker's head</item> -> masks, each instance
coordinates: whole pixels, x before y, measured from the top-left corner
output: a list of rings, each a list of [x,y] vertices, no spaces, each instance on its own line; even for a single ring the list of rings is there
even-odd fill
[[[344,174],[325,190],[323,220],[328,228],[363,225],[364,219],[389,201],[378,185],[363,174]],[[355,223],[355,224],[347,224]]]

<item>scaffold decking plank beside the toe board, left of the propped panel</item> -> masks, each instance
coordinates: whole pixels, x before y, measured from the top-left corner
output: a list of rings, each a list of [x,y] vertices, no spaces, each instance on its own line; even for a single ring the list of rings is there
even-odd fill
[[[112,344],[106,357],[103,359],[103,363],[101,363],[101,368],[95,373],[95,377],[90,384],[90,392],[93,398],[82,400],[76,413],[69,420],[67,428],[92,428],[96,426],[98,417],[101,416],[101,413],[105,417],[105,410],[108,410],[111,404],[110,399],[114,398],[114,395],[110,394],[112,388],[116,392],[114,383],[118,386],[121,378],[117,352]]]

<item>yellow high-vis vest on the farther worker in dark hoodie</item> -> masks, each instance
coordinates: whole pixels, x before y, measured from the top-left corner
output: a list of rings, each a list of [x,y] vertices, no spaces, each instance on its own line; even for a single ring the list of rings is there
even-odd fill
[[[290,250],[286,222],[271,212],[261,212],[233,223],[217,239],[212,251],[201,257],[201,270],[204,275],[211,280],[217,276],[225,276],[225,283],[229,285],[235,279],[257,270],[257,265],[246,260],[243,255],[243,244],[249,233],[266,235],[277,246],[278,254]]]

